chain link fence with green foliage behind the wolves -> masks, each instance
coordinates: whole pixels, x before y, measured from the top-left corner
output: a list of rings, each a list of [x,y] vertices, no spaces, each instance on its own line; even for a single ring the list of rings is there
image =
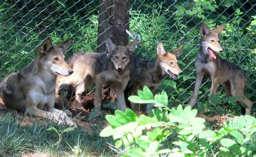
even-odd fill
[[[142,42],[136,54],[156,59],[156,45],[164,42],[167,51],[184,45],[179,66],[184,70],[177,80],[169,76],[158,91],[166,90],[172,103],[187,103],[195,81],[194,62],[199,49],[199,27],[211,28],[227,23],[220,35],[224,59],[239,65],[247,74],[246,95],[256,101],[255,1],[125,1],[129,8],[126,27],[140,34]],[[107,4],[106,4],[107,3]],[[112,1],[1,1],[0,2],[0,80],[32,62],[38,46],[51,37],[53,44],[73,38],[67,58],[80,51],[97,51],[106,32],[113,28]],[[103,16],[104,15],[104,16]],[[99,17],[101,19],[99,19]],[[101,25],[107,24],[104,30]],[[100,32],[98,32],[100,31]],[[211,84],[205,78],[199,101],[207,100]],[[223,86],[218,95],[225,97]],[[255,109],[254,109],[255,111]]]

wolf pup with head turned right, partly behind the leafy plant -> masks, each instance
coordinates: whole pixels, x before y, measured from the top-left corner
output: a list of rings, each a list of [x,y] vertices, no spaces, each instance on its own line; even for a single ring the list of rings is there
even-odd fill
[[[136,55],[130,57],[130,77],[132,85],[129,87],[129,95],[135,95],[137,91],[142,90],[144,86],[149,87],[154,94],[161,81],[168,74],[173,79],[177,79],[177,75],[182,73],[178,66],[177,57],[181,53],[183,46],[173,52],[166,52],[163,43],[157,44],[157,56],[155,61],[147,61]],[[111,96],[115,91],[111,88]],[[135,110],[134,104],[131,108]],[[147,114],[151,112],[152,105],[147,104]]]

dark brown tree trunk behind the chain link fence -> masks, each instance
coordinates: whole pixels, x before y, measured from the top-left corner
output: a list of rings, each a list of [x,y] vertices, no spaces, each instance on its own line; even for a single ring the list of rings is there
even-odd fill
[[[129,0],[99,0],[97,52],[106,52],[106,38],[111,38],[116,45],[127,45],[125,30],[129,29],[129,9]]]

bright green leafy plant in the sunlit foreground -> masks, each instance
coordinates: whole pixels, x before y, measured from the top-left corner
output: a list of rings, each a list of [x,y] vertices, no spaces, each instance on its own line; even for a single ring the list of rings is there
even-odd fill
[[[143,88],[138,96],[130,96],[133,103],[153,103],[151,116],[136,115],[131,109],[116,110],[107,115],[109,126],[101,137],[112,136],[117,148],[124,147],[128,156],[168,155],[250,155],[252,136],[255,137],[256,119],[252,116],[228,118],[219,130],[205,128],[205,119],[196,117],[197,110],[179,105],[168,105],[165,91],[153,96]],[[170,147],[165,147],[169,142]]]

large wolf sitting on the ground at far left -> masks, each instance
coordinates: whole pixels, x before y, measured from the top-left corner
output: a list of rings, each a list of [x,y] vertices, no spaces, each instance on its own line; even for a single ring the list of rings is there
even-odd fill
[[[68,125],[76,125],[65,112],[54,108],[57,75],[69,76],[73,70],[64,60],[64,52],[71,39],[53,46],[46,39],[39,55],[19,73],[12,73],[2,82],[4,104],[31,116],[51,118]]]

